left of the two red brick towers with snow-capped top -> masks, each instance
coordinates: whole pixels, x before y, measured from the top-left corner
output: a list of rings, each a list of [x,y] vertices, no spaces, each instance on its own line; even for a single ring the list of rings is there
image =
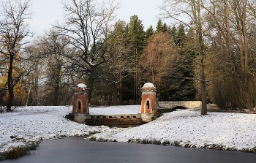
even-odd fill
[[[80,83],[74,88],[74,91],[72,113],[75,121],[83,123],[86,119],[86,114],[89,114],[89,88],[85,84]]]

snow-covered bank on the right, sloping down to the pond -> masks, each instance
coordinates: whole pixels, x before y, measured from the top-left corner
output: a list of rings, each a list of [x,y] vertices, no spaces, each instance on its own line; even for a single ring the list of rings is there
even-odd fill
[[[182,110],[165,113],[148,124],[123,131],[94,134],[88,139],[117,142],[177,144],[196,148],[222,148],[237,151],[256,150],[256,114],[208,113]]]

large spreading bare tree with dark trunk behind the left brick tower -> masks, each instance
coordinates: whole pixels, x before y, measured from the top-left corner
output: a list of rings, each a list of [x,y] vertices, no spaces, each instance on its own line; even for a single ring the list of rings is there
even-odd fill
[[[94,81],[102,78],[99,65],[110,59],[110,53],[106,53],[109,48],[107,40],[118,4],[108,2],[98,4],[94,0],[64,0],[64,24],[55,26],[74,48],[72,55],[66,55],[72,61],[72,73],[79,74],[78,77],[88,75],[89,99]]]

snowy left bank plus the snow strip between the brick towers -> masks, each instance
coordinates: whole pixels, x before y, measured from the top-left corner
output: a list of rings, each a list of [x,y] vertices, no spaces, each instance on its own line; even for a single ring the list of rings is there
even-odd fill
[[[91,107],[91,114],[140,113],[140,106]],[[0,114],[1,153],[28,141],[51,140],[59,137],[84,136],[90,132],[106,132],[107,126],[87,126],[69,121],[64,116],[72,107],[18,107],[12,113]]]

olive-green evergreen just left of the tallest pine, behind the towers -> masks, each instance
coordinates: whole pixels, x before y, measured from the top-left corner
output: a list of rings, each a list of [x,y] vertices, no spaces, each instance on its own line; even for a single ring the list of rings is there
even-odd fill
[[[121,80],[125,80],[125,77],[131,75],[133,70],[133,56],[129,54],[127,34],[126,23],[118,20],[108,39],[108,44],[112,47],[111,59],[108,63],[105,63],[104,72],[106,72],[106,75],[104,82],[105,86],[109,88],[108,95],[112,96],[112,105],[121,105],[123,100],[121,98]],[[99,94],[102,94],[102,92],[99,92]],[[124,92],[124,95],[127,95],[127,92]]]

